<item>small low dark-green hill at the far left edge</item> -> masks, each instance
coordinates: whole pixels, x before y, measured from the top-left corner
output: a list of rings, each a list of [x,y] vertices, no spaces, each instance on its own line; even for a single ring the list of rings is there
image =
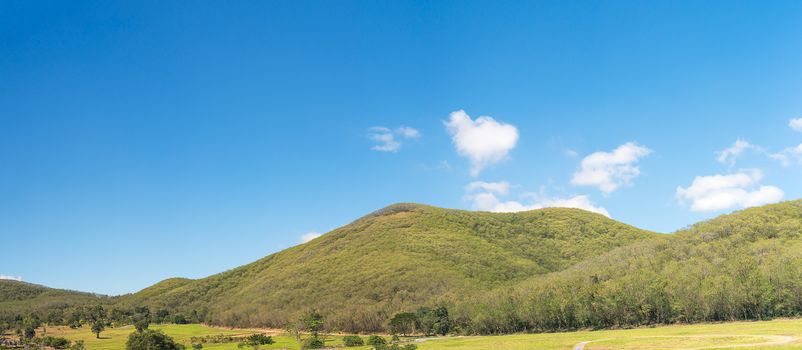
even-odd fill
[[[9,315],[108,301],[109,298],[102,295],[48,288],[27,282],[0,280],[0,319]]]

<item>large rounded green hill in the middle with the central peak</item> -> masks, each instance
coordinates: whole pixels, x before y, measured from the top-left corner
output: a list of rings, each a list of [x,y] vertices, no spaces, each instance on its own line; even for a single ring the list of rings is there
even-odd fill
[[[578,209],[397,204],[252,264],[121,303],[197,310],[232,326],[282,326],[316,308],[338,329],[376,330],[392,313],[458,303],[656,236]]]

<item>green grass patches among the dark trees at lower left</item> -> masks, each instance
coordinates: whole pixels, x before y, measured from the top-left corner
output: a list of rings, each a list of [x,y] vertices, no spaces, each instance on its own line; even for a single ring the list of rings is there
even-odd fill
[[[150,329],[154,330],[161,330],[165,334],[173,337],[177,342],[187,345],[189,347],[190,339],[192,337],[202,337],[207,335],[249,335],[257,330],[253,329],[228,329],[228,328],[216,328],[216,327],[208,327],[203,325],[197,324],[189,324],[189,325],[151,325]],[[134,328],[132,326],[125,326],[119,328],[108,328],[104,332],[100,333],[100,339],[95,338],[95,335],[91,333],[88,327],[82,327],[78,329],[70,329],[68,327],[49,327],[47,328],[47,335],[54,336],[54,337],[64,337],[70,340],[83,340],[86,342],[86,348],[89,350],[120,350],[125,349],[125,342],[128,339],[128,335],[131,332],[134,332]],[[37,332],[41,334],[40,332]],[[269,346],[262,346],[260,349],[299,349],[299,344],[295,340],[295,338],[288,336],[288,335],[271,335],[273,340],[276,342],[275,344]],[[329,346],[342,346],[342,337],[341,336],[328,336],[326,338],[326,345]],[[204,349],[211,349],[211,350],[234,350],[239,349],[237,348],[237,343],[225,343],[225,344],[204,344]],[[354,347],[349,349],[355,350],[365,350],[367,347]]]

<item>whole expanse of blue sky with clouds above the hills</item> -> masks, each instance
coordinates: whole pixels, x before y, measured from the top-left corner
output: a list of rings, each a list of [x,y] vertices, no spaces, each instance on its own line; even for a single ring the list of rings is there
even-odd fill
[[[671,232],[800,198],[800,23],[798,1],[3,1],[0,274],[133,292],[395,202]]]

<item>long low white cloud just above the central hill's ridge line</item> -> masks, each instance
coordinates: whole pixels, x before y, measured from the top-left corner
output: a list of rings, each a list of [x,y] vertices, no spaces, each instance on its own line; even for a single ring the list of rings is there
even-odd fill
[[[542,208],[578,208],[590,212],[599,213],[610,217],[606,209],[596,206],[588,196],[579,195],[570,198],[541,197],[536,196],[534,201],[524,204],[518,201],[504,201],[498,196],[504,196],[509,192],[507,182],[472,182],[466,188],[468,194],[466,199],[471,201],[474,210],[492,211],[497,213],[511,213]]]

